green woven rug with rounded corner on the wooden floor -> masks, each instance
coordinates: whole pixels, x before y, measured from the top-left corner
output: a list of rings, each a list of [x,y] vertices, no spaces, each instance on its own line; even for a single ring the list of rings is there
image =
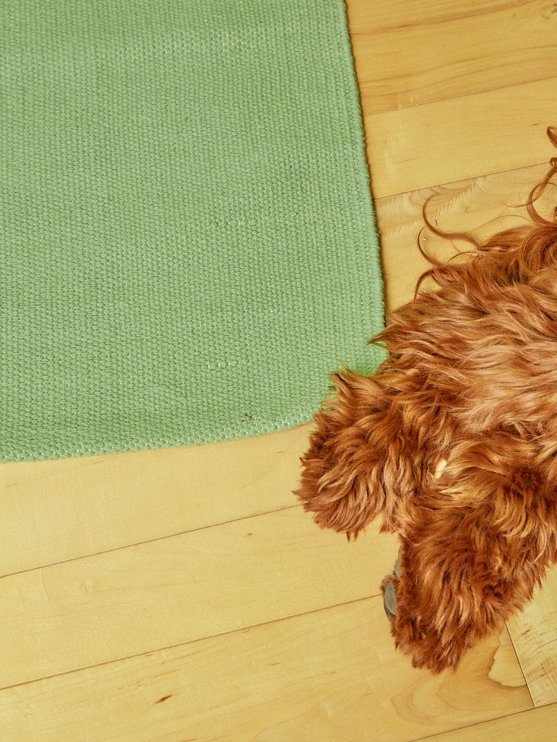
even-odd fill
[[[342,0],[4,0],[0,49],[0,460],[281,430],[374,370]]]

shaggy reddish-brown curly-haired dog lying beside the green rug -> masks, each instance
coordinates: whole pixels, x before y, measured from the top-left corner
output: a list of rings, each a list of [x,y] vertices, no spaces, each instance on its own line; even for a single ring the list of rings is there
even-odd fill
[[[388,351],[377,372],[332,376],[302,458],[297,494],[319,526],[350,539],[381,514],[399,534],[400,568],[382,583],[391,633],[433,672],[457,666],[557,560],[557,209],[546,220],[533,206],[550,165],[531,225],[467,237],[466,263],[430,259],[371,341]],[[420,290],[426,276],[434,291]]]

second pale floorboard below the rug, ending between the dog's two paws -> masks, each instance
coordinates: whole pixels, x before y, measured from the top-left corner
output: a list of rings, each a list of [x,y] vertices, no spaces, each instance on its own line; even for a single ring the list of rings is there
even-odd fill
[[[301,506],[0,580],[0,687],[378,594],[397,538]]]

